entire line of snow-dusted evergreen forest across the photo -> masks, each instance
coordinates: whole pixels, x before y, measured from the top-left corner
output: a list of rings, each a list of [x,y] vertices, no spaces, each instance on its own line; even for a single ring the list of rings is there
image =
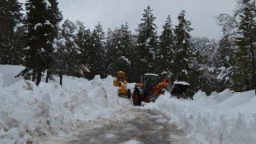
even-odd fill
[[[42,74],[46,74],[46,82],[58,75],[62,85],[63,75],[92,79],[99,74],[106,78],[123,70],[129,82],[139,82],[145,73],[189,82],[191,95],[198,90],[210,94],[226,88],[253,89],[254,72],[250,68],[254,65],[254,51],[250,52],[254,50],[254,30],[243,33],[243,21],[232,24],[235,18],[226,14],[218,17],[224,34],[220,42],[216,42],[191,38],[193,28],[186,20],[185,11],[178,14],[177,26],[173,26],[170,15],[167,16],[158,34],[153,10],[147,6],[138,29],[132,34],[127,22],[107,32],[100,22],[94,30],[87,29],[83,22],[69,19],[60,25],[62,14],[56,0],[27,0],[25,15],[17,0],[4,0],[0,6],[0,62],[25,66],[18,76],[37,85]],[[245,17],[246,7],[250,12],[253,10],[251,2],[241,6],[238,11],[242,12],[234,17]],[[229,24],[234,27],[227,26]],[[235,32],[239,37],[231,38],[235,28],[239,28]],[[250,35],[249,43],[246,34]]]

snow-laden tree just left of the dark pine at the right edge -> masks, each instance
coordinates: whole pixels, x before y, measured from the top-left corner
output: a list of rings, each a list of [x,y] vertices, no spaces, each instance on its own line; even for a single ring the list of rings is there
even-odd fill
[[[238,2],[240,3],[240,2]],[[240,4],[238,6],[241,6]],[[243,6],[243,5],[242,5]],[[238,22],[236,18],[241,13],[241,9],[234,10],[233,16],[229,14],[220,14],[217,18],[218,25],[222,26],[223,36],[219,41],[219,46],[213,56],[213,65],[216,68],[214,76],[217,79],[215,87],[217,91],[225,90],[236,85],[240,82],[237,78],[232,78],[236,73],[238,66],[235,64],[234,50],[235,38],[237,37],[236,31],[238,30]]]

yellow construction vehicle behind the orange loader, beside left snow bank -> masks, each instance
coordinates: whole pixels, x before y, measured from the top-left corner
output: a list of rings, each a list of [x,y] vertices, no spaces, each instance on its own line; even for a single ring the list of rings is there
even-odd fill
[[[130,89],[127,88],[126,72],[118,71],[114,78],[114,86],[118,86],[118,95],[130,98]]]

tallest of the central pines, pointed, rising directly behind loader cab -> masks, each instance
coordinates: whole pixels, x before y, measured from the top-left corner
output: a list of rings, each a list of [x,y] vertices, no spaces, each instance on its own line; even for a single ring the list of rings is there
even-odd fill
[[[152,14],[152,9],[147,6],[142,14],[142,23],[138,25],[137,46],[136,46],[136,69],[138,75],[145,73],[156,73],[154,60],[155,51],[158,48],[157,26],[154,24],[156,19]]]

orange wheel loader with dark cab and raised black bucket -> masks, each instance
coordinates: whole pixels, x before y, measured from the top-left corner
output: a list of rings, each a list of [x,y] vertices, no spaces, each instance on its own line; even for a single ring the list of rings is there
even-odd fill
[[[142,102],[155,102],[166,90],[174,97],[188,98],[186,91],[189,86],[187,82],[170,82],[168,79],[159,82],[158,74],[144,74],[142,81],[134,87],[132,96],[134,106],[140,106]]]

